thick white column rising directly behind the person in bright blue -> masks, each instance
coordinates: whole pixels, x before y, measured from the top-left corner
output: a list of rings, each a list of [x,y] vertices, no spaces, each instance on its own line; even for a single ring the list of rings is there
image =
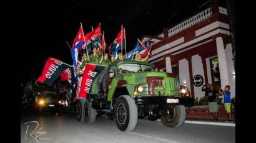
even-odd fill
[[[220,68],[220,85],[224,90],[225,85],[229,85],[229,72],[227,68],[227,58],[225,55],[224,43],[222,37],[216,38],[217,53]]]

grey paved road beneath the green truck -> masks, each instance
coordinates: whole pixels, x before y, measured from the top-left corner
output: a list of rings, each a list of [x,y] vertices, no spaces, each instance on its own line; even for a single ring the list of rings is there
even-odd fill
[[[31,134],[36,131],[39,140]],[[24,124],[26,122],[30,122]],[[41,127],[43,127],[41,129]],[[39,130],[39,131],[38,131]],[[31,134],[31,136],[30,136]],[[26,136],[26,139],[25,139]],[[121,132],[116,123],[104,117],[98,118],[94,124],[78,122],[73,114],[62,116],[52,114],[21,115],[21,142],[235,142],[235,127],[214,126],[205,124],[189,124],[178,129],[162,126],[160,121],[139,119],[133,132]]]

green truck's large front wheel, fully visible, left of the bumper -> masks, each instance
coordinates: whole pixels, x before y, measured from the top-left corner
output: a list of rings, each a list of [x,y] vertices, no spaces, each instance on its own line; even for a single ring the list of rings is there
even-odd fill
[[[116,124],[121,131],[133,131],[137,125],[138,111],[134,99],[122,95],[117,99]]]

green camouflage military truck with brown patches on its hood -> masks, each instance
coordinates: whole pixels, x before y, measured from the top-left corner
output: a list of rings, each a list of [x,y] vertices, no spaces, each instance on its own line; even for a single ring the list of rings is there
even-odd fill
[[[121,131],[133,131],[138,118],[182,126],[185,106],[193,106],[194,99],[176,75],[154,68],[132,60],[111,63],[93,81],[87,99],[77,100],[77,120],[94,123],[96,117],[107,115]]]

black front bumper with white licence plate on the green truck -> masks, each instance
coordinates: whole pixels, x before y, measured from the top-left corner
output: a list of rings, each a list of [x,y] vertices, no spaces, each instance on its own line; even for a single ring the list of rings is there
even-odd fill
[[[135,96],[135,104],[150,105],[159,104],[159,106],[184,105],[194,106],[194,98],[170,97],[170,96]]]

